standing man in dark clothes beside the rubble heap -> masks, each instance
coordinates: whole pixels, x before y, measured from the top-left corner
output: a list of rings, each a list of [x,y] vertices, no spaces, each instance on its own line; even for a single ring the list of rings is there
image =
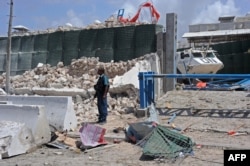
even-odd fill
[[[104,73],[104,67],[99,67],[97,71],[99,79],[96,85],[94,85],[94,88],[96,90],[94,98],[97,97],[97,107],[99,112],[97,123],[106,123],[108,116],[107,93],[109,91],[109,78]]]

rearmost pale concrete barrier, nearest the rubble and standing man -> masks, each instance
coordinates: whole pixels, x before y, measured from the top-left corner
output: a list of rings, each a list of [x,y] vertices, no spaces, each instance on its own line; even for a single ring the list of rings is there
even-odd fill
[[[77,119],[69,96],[0,96],[0,101],[13,104],[44,105],[50,126],[58,131],[75,130]],[[1,106],[0,106],[1,108]]]

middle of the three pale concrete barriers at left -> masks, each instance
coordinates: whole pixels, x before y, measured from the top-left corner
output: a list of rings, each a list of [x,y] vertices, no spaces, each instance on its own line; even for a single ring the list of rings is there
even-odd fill
[[[0,121],[24,123],[31,129],[37,145],[50,141],[50,127],[44,106],[0,105]]]

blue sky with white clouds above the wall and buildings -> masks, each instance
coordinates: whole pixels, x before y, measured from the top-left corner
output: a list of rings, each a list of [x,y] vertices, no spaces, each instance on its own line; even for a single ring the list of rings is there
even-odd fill
[[[67,23],[86,27],[95,20],[104,22],[119,9],[124,17],[133,17],[147,0],[13,0],[12,26],[23,25],[31,31],[57,28]],[[177,38],[188,32],[188,26],[216,23],[220,16],[245,16],[250,0],[148,0],[161,17],[158,24],[166,27],[166,14],[177,14]],[[0,36],[7,36],[10,0],[0,0]],[[148,8],[143,8],[140,21],[150,22]]]

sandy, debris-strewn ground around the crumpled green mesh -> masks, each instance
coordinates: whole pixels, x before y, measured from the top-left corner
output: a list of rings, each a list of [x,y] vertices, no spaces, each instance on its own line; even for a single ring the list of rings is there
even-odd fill
[[[181,101],[181,102],[180,102]],[[172,92],[157,101],[161,124],[167,123],[173,113],[175,126],[185,129],[184,135],[196,145],[194,155],[174,160],[153,160],[142,156],[142,149],[127,142],[113,143],[114,138],[124,138],[124,133],[114,133],[116,127],[129,122],[142,121],[134,114],[112,115],[107,129],[108,145],[89,151],[58,149],[42,146],[28,154],[0,160],[0,166],[75,166],[75,165],[223,165],[224,149],[250,149],[250,111],[247,92]],[[231,106],[230,106],[231,105]],[[168,107],[168,108],[167,108]],[[230,136],[229,130],[242,135]]]

